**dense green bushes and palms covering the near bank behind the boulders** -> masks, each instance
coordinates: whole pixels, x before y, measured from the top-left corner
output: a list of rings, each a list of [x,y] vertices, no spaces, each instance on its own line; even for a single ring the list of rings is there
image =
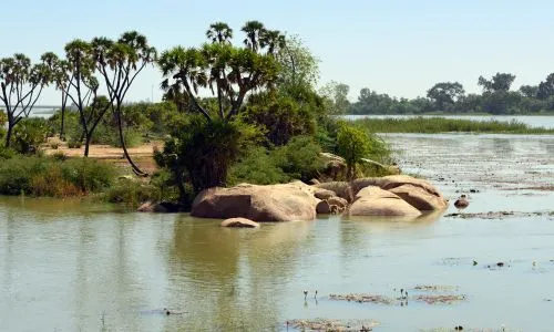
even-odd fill
[[[0,148],[0,194],[94,193],[132,207],[153,200],[186,208],[196,194],[215,186],[347,179],[336,172],[326,175],[329,158],[340,168],[345,157],[348,178],[378,173],[363,158],[390,162],[382,141],[332,116],[349,107],[348,86],[331,83],[318,93],[318,60],[297,37],[258,21],[246,22],[240,32],[243,43],[233,43],[233,29],[216,22],[206,43],[175,46],[160,56],[144,35],[130,31],[117,40],[75,39],[65,44],[64,59],[47,52],[35,65],[22,54],[0,60],[2,90],[28,91],[16,105],[3,94],[0,124],[7,122],[8,131]],[[125,103],[150,64],[164,76],[164,101]],[[61,94],[61,110],[48,120],[29,117],[49,84]],[[116,180],[112,164],[88,158],[91,144],[121,147],[134,174],[146,176],[127,147],[151,141],[163,141],[163,147],[154,152],[158,169],[148,178]],[[83,158],[69,157],[65,145],[83,145]]]

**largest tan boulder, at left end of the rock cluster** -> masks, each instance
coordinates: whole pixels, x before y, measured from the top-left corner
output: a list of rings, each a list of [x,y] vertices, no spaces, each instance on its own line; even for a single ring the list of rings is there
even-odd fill
[[[194,199],[191,215],[201,218],[243,217],[254,221],[314,220],[319,199],[317,188],[301,181],[203,190]]]

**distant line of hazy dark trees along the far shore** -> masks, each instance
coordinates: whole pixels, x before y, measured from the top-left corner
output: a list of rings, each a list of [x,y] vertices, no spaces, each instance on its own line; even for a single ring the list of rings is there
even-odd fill
[[[423,114],[423,113],[489,113],[532,114],[554,113],[554,73],[536,85],[511,90],[515,75],[496,73],[490,80],[480,76],[481,94],[465,94],[459,82],[441,82],[427,91],[425,97],[397,98],[367,87],[358,100],[348,102],[349,86],[331,82],[321,93],[335,103],[339,114]]]

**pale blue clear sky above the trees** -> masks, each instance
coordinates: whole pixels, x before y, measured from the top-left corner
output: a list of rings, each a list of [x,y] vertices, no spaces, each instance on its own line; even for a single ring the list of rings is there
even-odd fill
[[[261,21],[297,34],[320,60],[319,85],[362,87],[398,97],[424,96],[438,82],[462,83],[480,93],[480,75],[516,75],[513,90],[535,85],[554,72],[554,1],[551,0],[0,0],[0,58],[47,51],[63,55],[73,39],[116,39],[124,31],[146,35],[158,52],[196,46],[216,21],[240,27]],[[129,101],[161,100],[162,75],[145,70]],[[58,105],[47,89],[39,104]]]

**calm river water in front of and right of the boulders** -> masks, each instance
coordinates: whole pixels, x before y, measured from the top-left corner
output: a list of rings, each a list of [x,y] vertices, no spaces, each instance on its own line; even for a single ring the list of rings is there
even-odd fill
[[[554,136],[386,139],[404,172],[447,198],[469,194],[466,212],[516,214],[331,216],[237,230],[187,215],[0,198],[0,331],[286,331],[288,320],[314,318],[375,320],[373,331],[553,331]],[[421,284],[465,299],[427,304],[416,300]],[[329,299],[400,288],[408,305]],[[441,328],[450,330],[432,330]]]

